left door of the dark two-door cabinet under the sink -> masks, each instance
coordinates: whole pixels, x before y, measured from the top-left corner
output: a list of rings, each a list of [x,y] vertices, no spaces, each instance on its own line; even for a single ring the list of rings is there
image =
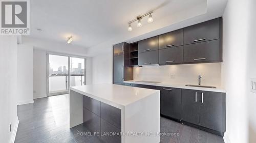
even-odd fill
[[[199,91],[182,89],[181,120],[199,125]]]

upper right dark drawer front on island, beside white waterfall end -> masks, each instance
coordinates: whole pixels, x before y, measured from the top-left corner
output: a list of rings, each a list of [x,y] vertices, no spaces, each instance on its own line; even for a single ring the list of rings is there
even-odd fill
[[[100,117],[121,129],[121,109],[101,102]]]

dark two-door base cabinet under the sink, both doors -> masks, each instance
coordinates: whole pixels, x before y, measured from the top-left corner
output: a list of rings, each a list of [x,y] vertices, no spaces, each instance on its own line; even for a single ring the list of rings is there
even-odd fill
[[[185,123],[224,135],[226,131],[225,93],[182,89],[182,116]]]

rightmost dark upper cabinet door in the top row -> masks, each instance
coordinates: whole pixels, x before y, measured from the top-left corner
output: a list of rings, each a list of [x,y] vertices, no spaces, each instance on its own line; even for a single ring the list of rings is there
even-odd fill
[[[184,45],[220,38],[220,18],[184,28]]]

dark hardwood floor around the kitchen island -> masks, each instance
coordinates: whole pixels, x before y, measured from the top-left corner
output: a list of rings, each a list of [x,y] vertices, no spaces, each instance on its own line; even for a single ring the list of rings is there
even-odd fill
[[[96,136],[80,136],[89,132],[82,124],[69,128],[68,95],[35,99],[34,103],[19,105],[19,126],[15,142],[102,142]],[[195,129],[161,117],[162,143],[224,143],[221,136]],[[113,142],[115,143],[115,142]]]

